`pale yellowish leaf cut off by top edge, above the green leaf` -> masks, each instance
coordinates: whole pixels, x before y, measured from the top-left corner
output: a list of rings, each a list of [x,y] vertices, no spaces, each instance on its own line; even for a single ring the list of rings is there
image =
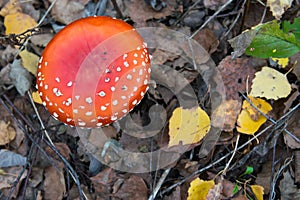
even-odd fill
[[[280,19],[286,9],[291,7],[293,0],[268,0],[267,6],[276,19]]]

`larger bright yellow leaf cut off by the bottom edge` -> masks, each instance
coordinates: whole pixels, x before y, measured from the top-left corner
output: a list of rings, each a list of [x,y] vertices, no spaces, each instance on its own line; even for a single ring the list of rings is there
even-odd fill
[[[215,186],[213,180],[203,181],[199,178],[190,183],[187,200],[206,200],[208,191]]]

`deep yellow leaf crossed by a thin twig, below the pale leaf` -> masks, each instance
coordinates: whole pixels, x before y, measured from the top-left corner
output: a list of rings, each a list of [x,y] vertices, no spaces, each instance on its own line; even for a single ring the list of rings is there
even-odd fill
[[[267,114],[272,110],[271,105],[263,99],[255,99],[251,96],[249,96],[249,99],[264,114]],[[258,111],[256,111],[255,108],[253,108],[246,100],[244,100],[242,108],[243,110],[239,114],[237,120],[237,131],[240,133],[253,135],[259,129],[259,127],[267,121],[267,119]],[[253,118],[255,118],[255,120]]]

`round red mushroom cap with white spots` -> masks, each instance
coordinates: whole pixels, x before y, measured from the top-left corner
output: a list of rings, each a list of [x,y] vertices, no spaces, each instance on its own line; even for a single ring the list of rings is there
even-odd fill
[[[110,17],[87,17],[67,25],[46,46],[37,88],[55,118],[101,127],[141,101],[150,71],[146,44],[132,26]]]

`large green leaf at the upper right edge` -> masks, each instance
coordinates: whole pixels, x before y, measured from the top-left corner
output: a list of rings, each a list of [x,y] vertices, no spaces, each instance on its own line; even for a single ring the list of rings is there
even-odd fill
[[[300,18],[293,24],[274,20],[260,26],[257,35],[246,49],[246,54],[258,58],[286,58],[300,51]]]

